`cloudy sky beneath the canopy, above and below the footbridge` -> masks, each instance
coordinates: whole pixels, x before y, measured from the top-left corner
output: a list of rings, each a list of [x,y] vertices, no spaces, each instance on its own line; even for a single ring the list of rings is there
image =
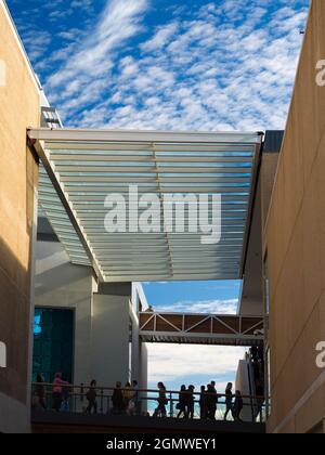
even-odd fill
[[[153,283],[144,284],[148,302],[159,311],[235,313],[240,283]],[[218,389],[234,381],[243,348],[156,344],[150,348],[150,381],[164,380],[170,388],[193,384],[196,389],[214,379]]]

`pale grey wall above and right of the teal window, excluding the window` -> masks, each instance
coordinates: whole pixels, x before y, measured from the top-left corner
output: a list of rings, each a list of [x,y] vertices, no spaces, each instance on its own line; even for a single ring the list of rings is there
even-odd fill
[[[147,385],[146,347],[139,340],[136,284],[107,284],[98,289],[92,270],[69,262],[58,242],[38,242],[36,306],[75,310],[74,382],[112,387],[132,378]],[[129,322],[133,323],[130,362]]]

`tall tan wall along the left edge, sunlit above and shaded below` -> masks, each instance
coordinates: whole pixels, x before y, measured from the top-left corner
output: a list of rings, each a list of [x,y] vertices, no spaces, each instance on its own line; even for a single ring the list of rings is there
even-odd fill
[[[40,93],[6,8],[0,0],[0,431],[29,430],[32,231],[38,166],[26,129],[38,127]],[[3,77],[4,76],[4,77]]]

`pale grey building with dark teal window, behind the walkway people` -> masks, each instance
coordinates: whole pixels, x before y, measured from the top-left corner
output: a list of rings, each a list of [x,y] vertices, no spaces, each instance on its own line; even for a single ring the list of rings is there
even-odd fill
[[[70,262],[47,219],[39,218],[38,225],[34,380],[42,373],[51,382],[61,372],[75,385],[136,380],[146,389],[138,314],[147,303],[141,285],[99,286],[92,268]]]

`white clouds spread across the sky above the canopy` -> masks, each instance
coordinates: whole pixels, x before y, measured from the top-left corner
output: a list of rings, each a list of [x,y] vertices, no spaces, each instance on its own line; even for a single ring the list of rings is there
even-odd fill
[[[72,10],[80,8],[91,4],[75,0]],[[30,48],[38,70],[56,67],[46,89],[67,125],[284,128],[307,0],[278,0],[277,9],[271,0],[185,2],[145,28],[151,8],[151,0],[107,0],[96,24],[63,24],[62,48],[43,61],[41,47]]]

